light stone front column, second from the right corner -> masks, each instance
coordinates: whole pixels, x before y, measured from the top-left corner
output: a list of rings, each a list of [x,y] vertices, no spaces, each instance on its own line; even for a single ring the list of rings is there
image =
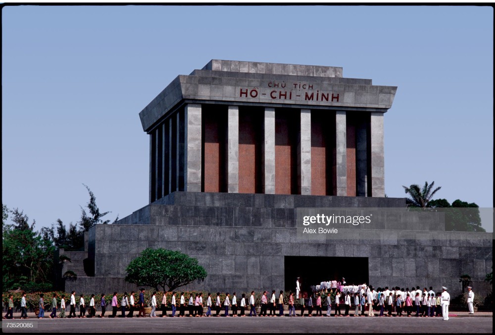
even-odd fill
[[[347,196],[347,125],[346,112],[335,112],[336,189],[340,196]]]

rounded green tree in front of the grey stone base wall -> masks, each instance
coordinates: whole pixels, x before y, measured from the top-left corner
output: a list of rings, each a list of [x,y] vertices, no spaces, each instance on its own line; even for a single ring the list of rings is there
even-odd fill
[[[150,286],[158,290],[174,290],[195,280],[206,278],[206,271],[198,260],[180,251],[145,249],[141,256],[133,259],[126,268],[125,280],[137,285]]]

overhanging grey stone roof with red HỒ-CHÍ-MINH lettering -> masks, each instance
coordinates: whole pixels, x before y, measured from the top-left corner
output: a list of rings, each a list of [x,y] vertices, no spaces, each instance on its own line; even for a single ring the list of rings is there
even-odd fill
[[[396,86],[344,78],[342,67],[210,60],[177,76],[140,113],[144,131],[183,103],[387,112]]]

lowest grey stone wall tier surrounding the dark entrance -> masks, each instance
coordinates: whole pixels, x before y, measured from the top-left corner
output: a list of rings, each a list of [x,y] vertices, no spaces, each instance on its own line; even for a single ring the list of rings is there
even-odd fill
[[[284,287],[285,256],[368,257],[373,285],[446,285],[459,276],[482,281],[492,267],[492,234],[362,230],[363,239],[304,241],[295,228],[96,225],[95,275],[124,277],[146,248],[179,250],[197,258],[208,277],[188,288],[247,291]],[[366,239],[365,236],[373,239]],[[325,265],[322,265],[325,266]]]

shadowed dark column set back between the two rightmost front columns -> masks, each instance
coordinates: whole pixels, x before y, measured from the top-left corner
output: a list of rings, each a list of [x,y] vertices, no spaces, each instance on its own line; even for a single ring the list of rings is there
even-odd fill
[[[359,119],[356,127],[356,183],[357,196],[368,196],[368,141],[367,121]]]

